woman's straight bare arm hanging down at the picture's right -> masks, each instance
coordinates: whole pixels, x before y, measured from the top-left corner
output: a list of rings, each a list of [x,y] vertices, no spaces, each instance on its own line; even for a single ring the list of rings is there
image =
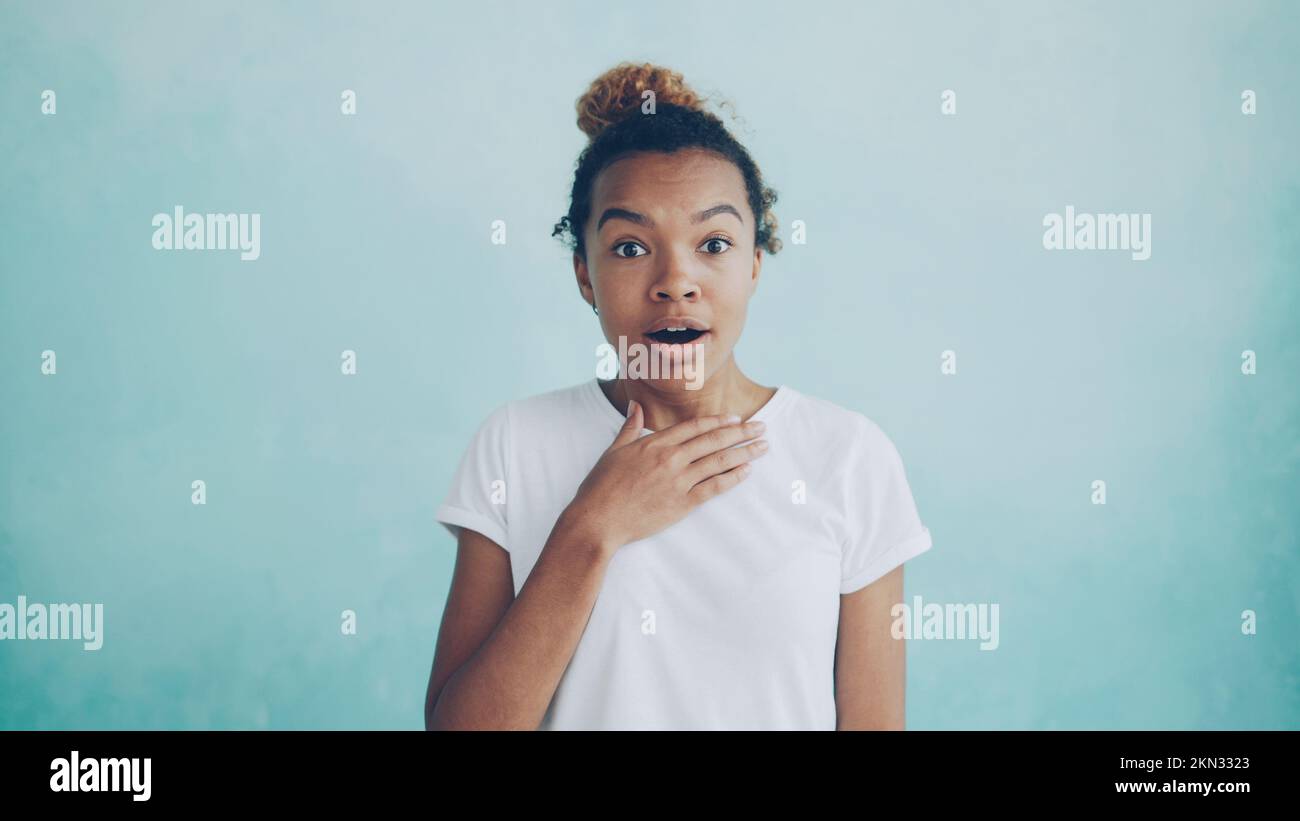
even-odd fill
[[[835,647],[837,730],[902,730],[906,695],[904,639],[890,635],[890,609],[902,601],[902,565],[840,596]]]

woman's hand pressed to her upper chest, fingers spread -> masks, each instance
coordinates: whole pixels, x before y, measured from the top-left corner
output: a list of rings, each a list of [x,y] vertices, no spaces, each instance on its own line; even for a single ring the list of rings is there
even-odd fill
[[[564,509],[562,521],[608,551],[645,539],[680,521],[696,505],[738,485],[749,462],[767,451],[758,421],[702,416],[641,436],[641,404]]]

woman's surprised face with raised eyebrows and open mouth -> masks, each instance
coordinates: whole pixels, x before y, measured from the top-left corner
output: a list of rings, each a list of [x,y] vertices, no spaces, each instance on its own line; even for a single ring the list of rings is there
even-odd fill
[[[693,390],[728,366],[762,268],[740,169],[701,149],[628,155],[597,177],[582,230],[578,288],[615,349],[623,336],[629,352],[640,344],[662,357],[662,378],[647,382]],[[690,330],[659,333],[664,325]]]

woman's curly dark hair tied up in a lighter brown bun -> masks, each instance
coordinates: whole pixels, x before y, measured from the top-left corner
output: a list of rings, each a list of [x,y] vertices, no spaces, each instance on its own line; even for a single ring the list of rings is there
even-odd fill
[[[653,114],[642,113],[645,91],[654,92]],[[585,260],[582,230],[592,214],[592,186],[606,166],[633,151],[702,148],[733,162],[745,178],[749,208],[755,216],[754,247],[768,253],[780,251],[772,213],[776,191],[763,186],[749,152],[722,120],[705,110],[705,100],[681,74],[649,62],[621,62],[595,78],[577,99],[577,127],[590,142],[577,158],[568,214],[555,223],[551,236],[567,235],[568,247]]]

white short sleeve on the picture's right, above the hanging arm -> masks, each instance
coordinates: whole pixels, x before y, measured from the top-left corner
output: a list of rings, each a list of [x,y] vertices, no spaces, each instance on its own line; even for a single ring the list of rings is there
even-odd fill
[[[875,422],[862,421],[844,474],[841,594],[866,587],[931,548],[898,449]]]

